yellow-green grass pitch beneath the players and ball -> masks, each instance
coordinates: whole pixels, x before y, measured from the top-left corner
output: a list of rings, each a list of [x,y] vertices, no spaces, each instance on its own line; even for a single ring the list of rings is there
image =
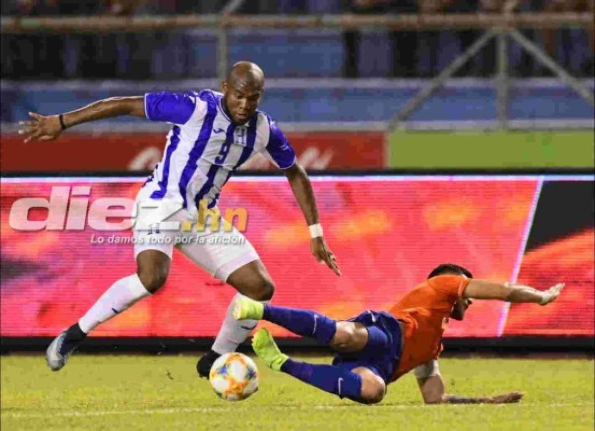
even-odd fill
[[[309,358],[324,362],[327,358]],[[593,430],[593,361],[442,359],[450,393],[522,390],[514,405],[421,403],[413,376],[362,406],[256,361],[260,390],[217,398],[196,356],[74,355],[52,373],[42,356],[2,356],[2,430]]]

